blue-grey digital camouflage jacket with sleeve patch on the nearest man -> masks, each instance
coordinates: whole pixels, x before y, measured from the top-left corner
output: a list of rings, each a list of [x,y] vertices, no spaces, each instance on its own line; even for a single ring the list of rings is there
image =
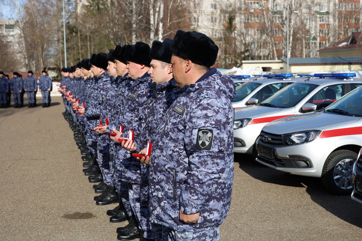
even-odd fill
[[[212,68],[165,114],[150,163],[153,223],[179,232],[218,227],[228,214],[233,181],[235,86]],[[195,224],[179,219],[200,212]]]

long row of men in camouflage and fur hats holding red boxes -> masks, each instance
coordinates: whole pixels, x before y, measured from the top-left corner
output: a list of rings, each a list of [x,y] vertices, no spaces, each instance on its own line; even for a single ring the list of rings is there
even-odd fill
[[[62,69],[63,115],[88,160],[85,175],[101,181],[94,201],[119,202],[110,221],[129,220],[118,240],[220,239],[231,201],[235,87],[210,69],[217,54],[206,35],[179,30],[152,48],[117,46]]]

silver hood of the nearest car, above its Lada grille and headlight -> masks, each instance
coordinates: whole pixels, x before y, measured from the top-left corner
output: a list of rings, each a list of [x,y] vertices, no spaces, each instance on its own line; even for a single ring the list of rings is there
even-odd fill
[[[271,121],[263,131],[285,134],[304,130],[320,130],[329,126],[358,121],[361,117],[344,116],[324,112],[311,112]]]

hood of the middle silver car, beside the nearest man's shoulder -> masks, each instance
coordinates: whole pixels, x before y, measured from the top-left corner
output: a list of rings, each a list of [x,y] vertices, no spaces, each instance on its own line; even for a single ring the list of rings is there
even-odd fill
[[[240,107],[235,109],[234,120],[260,117],[262,115],[267,115],[273,112],[281,111],[282,109],[283,108],[274,108],[274,107],[259,106],[259,105]]]

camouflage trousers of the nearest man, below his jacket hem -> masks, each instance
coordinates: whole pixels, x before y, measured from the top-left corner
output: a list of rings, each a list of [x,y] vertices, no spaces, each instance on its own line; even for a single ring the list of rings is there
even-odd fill
[[[219,227],[200,232],[178,232],[163,226],[162,241],[220,241]]]

